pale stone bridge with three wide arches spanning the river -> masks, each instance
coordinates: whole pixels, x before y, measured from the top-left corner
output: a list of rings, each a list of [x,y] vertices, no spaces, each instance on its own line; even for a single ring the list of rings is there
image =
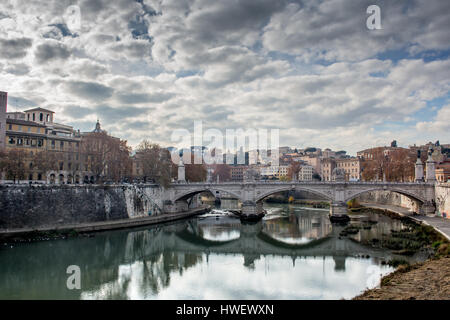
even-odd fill
[[[165,211],[187,210],[195,195],[210,192],[215,197],[227,194],[242,202],[242,213],[252,214],[262,210],[264,198],[282,191],[307,191],[330,201],[330,214],[347,212],[347,201],[370,191],[384,190],[405,195],[417,202],[421,214],[434,214],[434,183],[427,182],[222,182],[172,184],[164,192]]]

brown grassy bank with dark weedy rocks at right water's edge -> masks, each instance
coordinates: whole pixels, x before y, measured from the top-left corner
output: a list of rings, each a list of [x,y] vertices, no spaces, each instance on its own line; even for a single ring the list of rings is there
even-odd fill
[[[433,227],[417,223],[409,217],[401,217],[389,210],[354,208],[353,212],[373,212],[399,219],[406,226],[400,231],[392,230],[392,237],[378,245],[393,253],[412,255],[428,249],[431,258],[425,262],[409,265],[406,260],[389,261],[397,269],[381,279],[380,287],[366,290],[354,300],[449,300],[450,299],[450,243]]]

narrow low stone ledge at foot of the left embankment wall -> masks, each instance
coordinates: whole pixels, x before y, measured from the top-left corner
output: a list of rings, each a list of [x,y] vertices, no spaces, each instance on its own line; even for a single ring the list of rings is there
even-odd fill
[[[55,225],[39,228],[21,228],[0,231],[1,242],[24,242],[47,238],[65,238],[78,234],[88,234],[99,231],[142,227],[146,225],[186,219],[210,210],[210,206],[202,206],[181,213],[166,213],[142,218],[120,219],[110,221],[88,222],[67,225]]]

